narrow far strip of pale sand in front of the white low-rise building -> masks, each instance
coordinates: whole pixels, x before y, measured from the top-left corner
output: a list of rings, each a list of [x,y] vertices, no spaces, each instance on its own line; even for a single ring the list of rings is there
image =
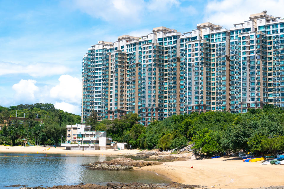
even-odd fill
[[[45,150],[44,150],[45,149]],[[49,149],[49,150],[47,150]],[[1,153],[45,153],[45,154],[85,154],[85,155],[123,155],[123,154],[137,154],[139,150],[114,150],[114,149],[107,149],[107,150],[66,150],[65,147],[40,147],[40,146],[28,146],[28,147],[21,147],[21,146],[3,146],[0,145],[0,152]]]

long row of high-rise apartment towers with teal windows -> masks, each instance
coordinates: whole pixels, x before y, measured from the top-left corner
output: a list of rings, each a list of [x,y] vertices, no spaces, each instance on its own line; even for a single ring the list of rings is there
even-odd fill
[[[192,111],[284,107],[284,20],[266,11],[225,29],[157,27],[99,41],[83,58],[82,121],[133,112],[141,124]]]

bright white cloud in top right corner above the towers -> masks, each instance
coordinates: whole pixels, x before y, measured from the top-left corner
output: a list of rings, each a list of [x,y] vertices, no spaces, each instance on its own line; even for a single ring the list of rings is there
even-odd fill
[[[204,22],[212,22],[230,29],[233,24],[249,20],[250,14],[267,10],[274,17],[283,16],[284,0],[209,1],[204,9]]]

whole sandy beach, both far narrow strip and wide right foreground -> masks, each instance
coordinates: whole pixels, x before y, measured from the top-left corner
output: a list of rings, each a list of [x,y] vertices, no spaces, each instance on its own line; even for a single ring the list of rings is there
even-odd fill
[[[8,149],[7,149],[8,148]],[[71,151],[64,147],[7,147],[0,146],[0,152],[7,153],[46,153],[81,155],[130,155],[140,150],[95,150]],[[43,149],[46,149],[43,151]],[[133,167],[135,170],[147,170],[165,175],[174,182],[201,185],[204,188],[258,188],[284,186],[284,165],[259,165],[260,162],[243,162],[236,157],[220,157],[204,160],[186,160],[164,162],[161,165]],[[193,167],[193,168],[191,168]]]

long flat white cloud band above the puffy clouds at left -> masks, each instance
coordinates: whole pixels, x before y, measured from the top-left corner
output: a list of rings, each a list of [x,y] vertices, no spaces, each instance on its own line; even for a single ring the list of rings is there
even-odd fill
[[[28,65],[0,62],[0,75],[7,74],[28,74],[33,77],[59,75],[70,71],[64,65],[51,63],[31,63]]]

